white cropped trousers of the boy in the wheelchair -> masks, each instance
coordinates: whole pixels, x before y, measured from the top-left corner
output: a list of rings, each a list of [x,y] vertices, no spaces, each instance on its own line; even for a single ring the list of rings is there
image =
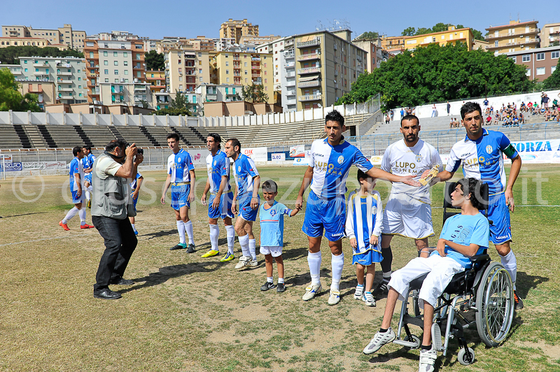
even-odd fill
[[[424,308],[423,301],[426,301],[435,308],[437,298],[442,295],[453,276],[462,271],[465,271],[465,268],[449,257],[440,255],[432,255],[428,258],[416,257],[391,275],[388,286],[398,292],[400,301],[405,301],[410,282],[428,273],[420,289],[419,306]]]

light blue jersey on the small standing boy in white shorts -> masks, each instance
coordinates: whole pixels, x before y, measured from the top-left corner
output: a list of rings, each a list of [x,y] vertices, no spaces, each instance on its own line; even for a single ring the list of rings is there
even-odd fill
[[[268,203],[262,203],[259,208],[260,245],[266,247],[283,247],[284,215],[290,215],[282,203],[274,201],[272,207],[265,209]]]

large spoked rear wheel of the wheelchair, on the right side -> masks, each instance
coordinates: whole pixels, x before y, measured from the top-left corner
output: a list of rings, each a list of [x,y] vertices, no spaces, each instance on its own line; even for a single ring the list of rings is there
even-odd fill
[[[510,331],[513,320],[513,284],[498,262],[491,262],[480,280],[476,298],[476,323],[480,339],[498,346]]]

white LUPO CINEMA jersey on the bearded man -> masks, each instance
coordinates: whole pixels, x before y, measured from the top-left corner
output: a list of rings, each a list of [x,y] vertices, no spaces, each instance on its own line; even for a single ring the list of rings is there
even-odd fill
[[[433,166],[439,166],[439,171],[443,170],[440,154],[432,145],[421,139],[412,148],[405,144],[404,139],[392,143],[385,150],[381,161],[381,169],[384,171],[396,176],[413,176],[416,181],[420,179],[424,171]],[[391,196],[397,194],[409,196],[423,203],[430,203],[429,185],[416,187],[405,183],[393,183]]]

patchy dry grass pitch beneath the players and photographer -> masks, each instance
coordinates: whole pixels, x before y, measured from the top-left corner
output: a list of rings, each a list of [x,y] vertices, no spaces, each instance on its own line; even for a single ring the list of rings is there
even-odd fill
[[[259,171],[262,180],[279,183],[278,199],[293,206],[304,168]],[[113,286],[123,294],[116,301],[92,296],[104,250],[97,230],[80,230],[77,216],[69,222],[71,231],[58,226],[72,206],[68,177],[0,182],[1,371],[416,371],[418,350],[391,344],[372,356],[362,354],[379,329],[386,300],[367,308],[353,299],[356,274],[347,240],[339,305],[327,304],[326,241],[321,270],[325,291],[309,302],[301,300],[310,281],[303,213],[285,218],[286,292],[260,292],[266,276],[262,255],[258,268],[241,272],[233,269],[237,259],[222,264],[222,256],[200,257],[209,248],[207,209],[200,201],[190,213],[197,253],[169,251],[179,237],[169,201],[165,206],[159,202],[165,171],[143,174],[136,222],[139,244],[125,273],[137,283]],[[197,169],[197,176],[200,199],[205,170]],[[355,178],[353,169],[349,189],[357,185]],[[498,348],[486,348],[475,330],[468,331],[475,364],[458,364],[458,343],[453,340],[447,357],[438,355],[437,369],[560,370],[559,183],[560,166],[524,165],[514,187],[512,247],[519,267],[517,289],[526,308],[515,313],[509,338]],[[378,182],[377,189],[385,202],[388,184]],[[39,194],[36,201],[26,202]],[[433,188],[436,234],[442,224],[442,209],[437,208],[442,206],[441,194],[438,184]],[[225,253],[221,222],[220,228]],[[254,231],[258,236],[258,224]],[[435,242],[430,238],[430,245]],[[416,256],[408,239],[395,237],[391,245],[394,269]],[[498,259],[496,250],[489,252]],[[240,255],[237,241],[235,254]],[[381,277],[377,270],[376,284]]]

